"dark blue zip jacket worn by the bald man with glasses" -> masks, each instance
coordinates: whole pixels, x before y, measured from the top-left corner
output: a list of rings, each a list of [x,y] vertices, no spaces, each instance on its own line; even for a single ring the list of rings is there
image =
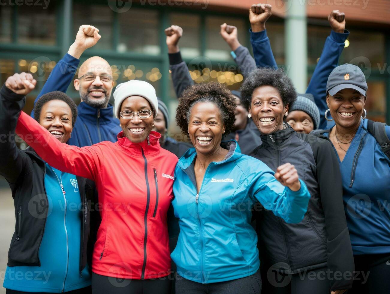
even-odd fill
[[[79,59],[66,53],[51,71],[41,93],[35,99],[34,105],[39,97],[48,92],[61,91],[65,93],[72,82],[79,63]],[[72,137],[67,144],[83,147],[91,146],[101,141],[114,143],[117,141],[116,136],[109,136],[112,129],[119,126],[119,119],[114,117],[111,104],[108,104],[106,108],[99,109],[81,102],[77,107],[77,112]],[[34,117],[34,112],[31,113],[31,116]]]

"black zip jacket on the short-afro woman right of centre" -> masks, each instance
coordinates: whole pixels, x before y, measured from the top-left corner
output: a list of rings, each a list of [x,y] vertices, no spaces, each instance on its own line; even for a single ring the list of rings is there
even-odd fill
[[[332,145],[325,139],[297,133],[288,124],[285,127],[262,135],[263,144],[251,155],[273,171],[287,162],[293,164],[311,198],[305,217],[298,224],[287,224],[264,209],[255,212],[261,260],[267,266],[284,263],[282,271],[289,274],[321,267],[328,267],[331,275],[352,273],[354,262],[342,200],[342,178]],[[332,290],[349,289],[351,285],[352,279],[331,278]]]

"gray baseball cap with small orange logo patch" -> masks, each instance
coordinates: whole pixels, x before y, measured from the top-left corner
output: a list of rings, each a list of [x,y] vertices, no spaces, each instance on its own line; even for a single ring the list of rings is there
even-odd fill
[[[342,89],[354,89],[366,95],[367,83],[363,71],[354,64],[343,64],[333,69],[326,83],[326,91],[335,95]]]

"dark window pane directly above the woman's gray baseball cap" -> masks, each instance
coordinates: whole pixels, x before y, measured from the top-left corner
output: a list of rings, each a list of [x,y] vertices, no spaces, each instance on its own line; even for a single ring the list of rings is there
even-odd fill
[[[385,59],[384,34],[351,30],[348,41],[349,46],[343,50],[343,63],[359,65],[358,63],[364,57],[371,62],[372,68],[376,68],[377,63],[383,64]]]

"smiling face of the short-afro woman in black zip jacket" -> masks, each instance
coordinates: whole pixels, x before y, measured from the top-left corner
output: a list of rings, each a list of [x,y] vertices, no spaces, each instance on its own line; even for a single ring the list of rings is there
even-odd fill
[[[261,86],[253,91],[249,113],[261,134],[281,130],[284,114],[288,110],[288,105],[283,106],[282,97],[275,87]]]

